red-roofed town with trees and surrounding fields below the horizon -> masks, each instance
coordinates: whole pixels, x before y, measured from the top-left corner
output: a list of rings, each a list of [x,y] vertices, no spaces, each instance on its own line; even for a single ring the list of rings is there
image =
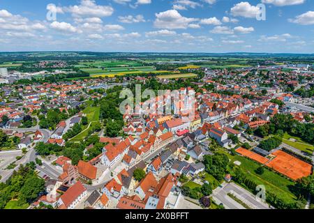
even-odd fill
[[[1,209],[314,208],[313,58],[73,54],[0,64]]]

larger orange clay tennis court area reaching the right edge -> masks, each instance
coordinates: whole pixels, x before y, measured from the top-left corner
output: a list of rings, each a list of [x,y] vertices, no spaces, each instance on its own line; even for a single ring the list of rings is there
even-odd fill
[[[299,160],[283,151],[271,153],[276,156],[273,160],[266,164],[267,167],[278,171],[279,173],[297,180],[312,174],[312,165]]]

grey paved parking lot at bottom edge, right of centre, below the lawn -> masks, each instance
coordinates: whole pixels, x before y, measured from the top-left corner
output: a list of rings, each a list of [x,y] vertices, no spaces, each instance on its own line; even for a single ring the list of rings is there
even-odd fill
[[[228,193],[235,194],[238,199],[241,199],[241,201],[253,209],[269,209],[267,203],[257,201],[251,192],[244,190],[244,188],[235,183],[224,183],[223,188],[217,187],[211,196],[218,204],[223,203],[226,209],[245,209],[244,206],[241,206],[240,203],[229,197]]]

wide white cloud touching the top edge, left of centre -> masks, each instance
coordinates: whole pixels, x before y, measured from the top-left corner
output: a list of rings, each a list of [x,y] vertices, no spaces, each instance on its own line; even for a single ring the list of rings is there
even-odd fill
[[[74,17],[108,17],[114,13],[112,6],[98,6],[94,0],[81,0],[78,6],[69,6],[65,11]]]

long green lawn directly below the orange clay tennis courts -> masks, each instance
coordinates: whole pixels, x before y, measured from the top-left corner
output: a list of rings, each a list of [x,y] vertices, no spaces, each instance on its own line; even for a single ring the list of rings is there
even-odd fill
[[[224,151],[219,152],[225,153]],[[266,190],[276,194],[279,198],[284,199],[285,201],[293,202],[297,200],[297,197],[289,190],[289,188],[294,185],[294,182],[291,180],[266,168],[264,169],[264,174],[258,175],[255,173],[255,170],[260,167],[261,164],[239,155],[232,156],[229,153],[225,154],[230,158],[232,163],[236,160],[240,161],[241,169],[246,173],[246,176],[253,180],[253,182],[257,183],[257,185],[265,185]]]

